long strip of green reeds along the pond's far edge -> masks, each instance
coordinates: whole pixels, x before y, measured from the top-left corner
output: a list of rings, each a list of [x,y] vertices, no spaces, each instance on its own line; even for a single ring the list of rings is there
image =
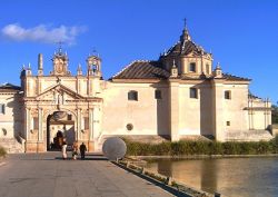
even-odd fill
[[[123,139],[128,156],[186,156],[186,155],[265,155],[278,154],[278,136],[270,141],[165,141],[136,142]]]

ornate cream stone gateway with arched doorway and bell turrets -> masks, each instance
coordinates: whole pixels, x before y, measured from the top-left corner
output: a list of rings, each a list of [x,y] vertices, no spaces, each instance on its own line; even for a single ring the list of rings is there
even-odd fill
[[[87,59],[87,75],[68,71],[68,57],[61,50],[54,55],[53,70],[43,75],[39,55],[38,76],[23,69],[26,151],[47,151],[68,145],[85,142],[90,151],[98,146],[102,99],[97,97],[101,81],[100,58]]]

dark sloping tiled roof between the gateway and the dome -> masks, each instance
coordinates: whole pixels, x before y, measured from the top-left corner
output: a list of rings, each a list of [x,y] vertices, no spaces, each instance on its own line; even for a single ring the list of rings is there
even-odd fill
[[[158,61],[133,61],[112,79],[167,79],[170,73],[159,67]]]

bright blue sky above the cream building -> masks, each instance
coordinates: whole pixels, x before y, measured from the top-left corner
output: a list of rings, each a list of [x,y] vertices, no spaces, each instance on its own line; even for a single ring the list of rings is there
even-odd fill
[[[1,0],[0,83],[20,83],[23,63],[52,69],[64,40],[70,70],[96,49],[106,79],[136,59],[156,60],[178,41],[187,18],[195,42],[225,72],[251,78],[251,92],[278,101],[278,1],[275,0]]]

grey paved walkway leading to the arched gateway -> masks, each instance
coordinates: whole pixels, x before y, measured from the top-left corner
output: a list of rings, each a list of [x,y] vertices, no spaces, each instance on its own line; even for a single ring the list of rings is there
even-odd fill
[[[0,166],[0,197],[172,196],[102,156],[60,157],[60,152],[9,155]]]

